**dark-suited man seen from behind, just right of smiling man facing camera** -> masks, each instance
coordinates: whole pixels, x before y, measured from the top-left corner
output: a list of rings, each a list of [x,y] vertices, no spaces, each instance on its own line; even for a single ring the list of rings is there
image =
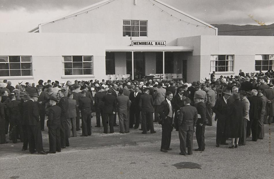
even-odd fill
[[[144,89],[144,94],[140,96],[139,107],[141,109],[142,116],[142,134],[146,134],[150,130],[150,133],[155,133],[153,126],[153,99],[149,95],[149,89]]]

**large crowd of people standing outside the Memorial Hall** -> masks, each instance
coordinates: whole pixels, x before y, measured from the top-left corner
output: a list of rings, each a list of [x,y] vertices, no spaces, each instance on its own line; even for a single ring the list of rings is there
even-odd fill
[[[120,133],[139,127],[142,134],[156,133],[153,122],[161,124],[162,152],[172,150],[174,128],[179,131],[180,154],[191,155],[194,132],[198,143],[195,151],[205,150],[205,126],[212,126],[215,113],[216,147],[228,145],[226,140],[231,138],[229,148],[237,148],[245,145],[250,135],[252,141],[262,140],[264,124],[273,122],[273,82],[273,70],[264,74],[244,74],[240,70],[239,76],[219,78],[213,72],[210,78],[191,84],[183,80],[39,80],[36,86],[20,81],[14,87],[10,81],[1,80],[0,143],[7,143],[9,134],[13,143],[23,143],[22,151],[29,148],[32,154],[61,152],[70,146],[71,131],[72,137],[79,130],[81,137],[91,135],[95,113],[95,127],[102,123],[104,133],[114,133],[114,126],[119,126]],[[47,152],[41,132],[45,125],[50,146]]]

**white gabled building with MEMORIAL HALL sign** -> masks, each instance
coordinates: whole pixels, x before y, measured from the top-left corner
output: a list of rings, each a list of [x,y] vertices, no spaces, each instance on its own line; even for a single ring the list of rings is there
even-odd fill
[[[274,69],[274,37],[217,36],[217,28],[158,0],[104,0],[29,32],[37,33],[0,34],[1,79],[164,74],[192,82],[212,71]]]

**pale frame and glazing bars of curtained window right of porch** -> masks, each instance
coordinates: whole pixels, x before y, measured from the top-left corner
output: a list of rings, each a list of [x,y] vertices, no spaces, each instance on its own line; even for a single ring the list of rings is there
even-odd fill
[[[220,55],[225,55],[225,60],[218,60]],[[217,60],[213,60],[213,59],[215,59],[214,56],[217,56]],[[232,56],[233,60],[228,60],[227,59],[228,56]],[[229,64],[228,65],[226,65],[226,64],[225,65],[218,65],[218,64],[216,65],[216,63],[215,63],[215,65],[211,66],[212,62],[214,62],[214,61],[215,62],[216,61],[217,62],[218,61],[225,61],[225,63],[227,61],[228,62],[232,61],[233,64],[232,65],[229,65]],[[234,64],[235,64],[234,61],[235,61],[235,55],[234,54],[218,54],[218,55],[215,54],[215,55],[210,55],[210,73],[213,73],[213,71],[215,71],[216,73],[226,73],[226,72],[227,73],[234,73]],[[217,69],[216,69],[216,67],[217,67]],[[232,67],[232,71],[231,70],[230,71],[218,71],[218,67],[224,67],[225,69],[226,68],[229,69],[230,67]],[[214,69],[214,70],[211,70],[211,69]]]

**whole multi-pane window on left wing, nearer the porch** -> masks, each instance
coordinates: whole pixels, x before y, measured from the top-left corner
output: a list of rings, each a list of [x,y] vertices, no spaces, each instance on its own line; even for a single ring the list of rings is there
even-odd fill
[[[63,56],[65,75],[93,75],[93,56]]]

